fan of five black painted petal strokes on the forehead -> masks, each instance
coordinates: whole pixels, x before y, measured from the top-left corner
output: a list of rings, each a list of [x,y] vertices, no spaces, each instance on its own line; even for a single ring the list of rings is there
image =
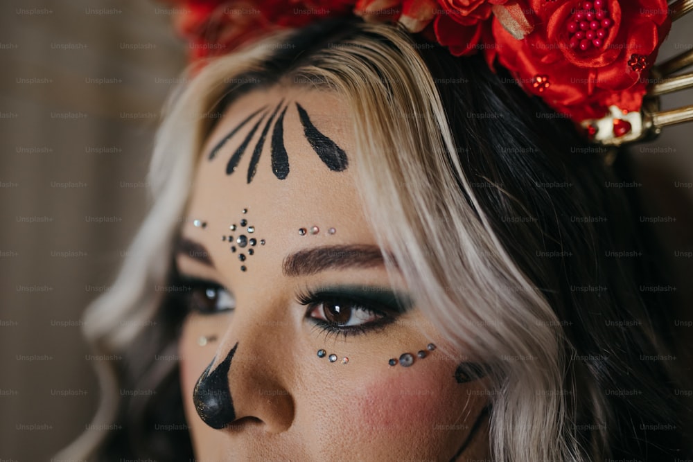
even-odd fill
[[[308,112],[306,112],[306,109],[301,107],[299,103],[295,104],[296,108],[298,109],[301,125],[303,125],[304,128],[304,135],[306,136],[308,143],[310,143],[310,146],[313,148],[320,160],[322,160],[322,162],[333,172],[342,172],[343,170],[346,170],[347,166],[349,166],[347,153],[344,152],[344,150],[342,150],[342,148],[340,148],[337,145],[337,143],[329,139],[328,136],[317,130],[315,125],[313,125],[313,122],[310,121],[310,117],[308,116]],[[267,139],[267,134],[270,132],[270,127],[272,127],[273,122],[274,130],[272,130],[271,154],[272,173],[274,173],[274,176],[279,179],[286,179],[286,177],[288,177],[289,175],[289,158],[288,154],[286,153],[286,148],[284,147],[283,124],[284,115],[286,114],[286,109],[288,109],[288,105],[285,105],[283,109],[281,109],[282,105],[283,100],[279,102],[279,104],[277,105],[277,107],[274,108],[274,111],[272,111],[271,114],[269,111],[266,110],[267,106],[265,105],[257,111],[253,112],[252,114],[250,114],[249,116],[247,116],[245,119],[243,119],[243,121],[236,125],[236,127],[234,127],[234,129],[231,130],[231,132],[229,132],[229,134],[227,134],[227,136],[225,136],[224,139],[222,139],[222,141],[217,143],[217,145],[209,153],[208,160],[213,160],[218,154],[218,152],[222,148],[224,148],[227,141],[229,141],[229,139],[231,139],[238,132],[238,130],[240,130],[242,127],[245,127],[245,125],[247,125],[247,123],[256,118],[258,114],[261,114],[259,120],[256,121],[255,125],[253,125],[250,131],[245,135],[245,138],[240,143],[238,148],[236,148],[236,151],[234,151],[234,154],[231,155],[231,159],[229,159],[227,163],[226,174],[231,175],[231,173],[235,172],[236,168],[238,168],[238,163],[240,163],[240,159],[243,157],[243,154],[247,150],[248,145],[250,144],[256,132],[258,131],[258,128],[263,123],[265,118],[267,118],[267,114],[270,114],[270,117],[267,118],[267,123],[265,123],[265,126],[263,127],[257,144],[255,145],[252,157],[250,158],[250,164],[248,166],[247,173],[247,182],[250,183],[250,181],[252,181],[252,179],[255,177],[257,166],[262,155],[262,150],[265,146],[265,140]],[[277,116],[277,114],[279,114],[279,116]]]

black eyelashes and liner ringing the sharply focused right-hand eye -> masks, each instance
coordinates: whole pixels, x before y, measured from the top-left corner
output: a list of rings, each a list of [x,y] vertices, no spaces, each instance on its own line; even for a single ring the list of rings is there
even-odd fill
[[[385,326],[387,326],[389,323],[394,322],[397,317],[396,313],[398,313],[396,308],[388,307],[382,303],[335,292],[314,292],[310,289],[304,289],[297,294],[296,299],[298,303],[308,307],[306,309],[306,318],[315,325],[315,328],[323,332],[326,337],[330,337],[331,335],[343,335],[344,337],[349,337],[351,335],[363,335],[371,332],[377,332],[385,328]],[[316,319],[309,316],[310,312],[319,307],[319,305],[335,302],[348,304],[352,307],[356,307],[360,311],[367,312],[368,314],[378,314],[383,317],[377,321],[361,324],[359,326],[339,326],[335,325],[335,323],[330,323],[328,321],[324,321],[323,319]],[[374,306],[377,306],[378,308],[374,308]]]

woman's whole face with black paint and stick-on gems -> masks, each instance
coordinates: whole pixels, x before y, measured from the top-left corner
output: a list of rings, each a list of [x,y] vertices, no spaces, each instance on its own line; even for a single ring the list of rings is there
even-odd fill
[[[200,461],[487,455],[483,380],[458,382],[464,352],[388,276],[345,107],[317,90],[254,91],[204,145],[176,257],[193,287],[179,350]]]

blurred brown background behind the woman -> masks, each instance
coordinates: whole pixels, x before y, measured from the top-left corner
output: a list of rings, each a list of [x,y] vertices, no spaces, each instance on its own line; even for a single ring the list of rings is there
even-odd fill
[[[0,6],[0,459],[49,460],[96,409],[80,317],[149,205],[152,136],[185,64],[171,14],[145,0]],[[662,57],[693,48],[690,16]],[[693,201],[691,130],[634,148],[658,215],[678,217],[660,225],[672,255],[693,250],[693,213],[672,199]],[[689,283],[692,261],[673,263]]]

